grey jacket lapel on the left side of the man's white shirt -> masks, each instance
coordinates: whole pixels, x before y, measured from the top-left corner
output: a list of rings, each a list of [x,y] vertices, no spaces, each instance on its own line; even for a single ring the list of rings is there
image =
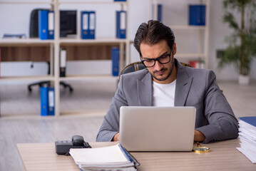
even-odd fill
[[[152,105],[152,78],[149,72],[141,81],[137,80],[137,90],[139,105]]]

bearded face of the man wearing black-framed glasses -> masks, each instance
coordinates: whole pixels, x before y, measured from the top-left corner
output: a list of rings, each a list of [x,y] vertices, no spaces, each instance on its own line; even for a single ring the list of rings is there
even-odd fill
[[[148,45],[146,43],[140,44],[141,51],[141,60],[150,59],[150,58],[158,58],[159,56],[165,56],[170,54],[170,47],[168,43],[163,40],[154,45]],[[171,74],[173,71],[173,55],[176,53],[176,45],[173,45],[173,53],[170,56],[169,63],[159,63],[155,61],[155,66],[148,68],[149,73],[153,76],[153,81],[156,83],[171,83],[173,80],[171,78]]]

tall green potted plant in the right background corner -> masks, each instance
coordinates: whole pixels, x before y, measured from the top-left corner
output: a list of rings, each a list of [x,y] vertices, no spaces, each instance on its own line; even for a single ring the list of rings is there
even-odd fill
[[[228,46],[220,58],[218,67],[235,64],[239,71],[239,83],[248,84],[252,58],[256,57],[256,2],[224,0],[222,4],[225,10],[222,21],[227,23],[233,32],[225,39]]]

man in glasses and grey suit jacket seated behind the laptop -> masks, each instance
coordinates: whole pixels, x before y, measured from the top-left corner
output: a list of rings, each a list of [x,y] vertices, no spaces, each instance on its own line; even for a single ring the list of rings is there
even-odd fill
[[[123,105],[195,106],[195,141],[237,138],[237,119],[217,86],[215,73],[180,65],[174,58],[175,36],[168,26],[152,20],[141,24],[134,46],[147,68],[121,76],[97,141],[119,140],[119,110]]]

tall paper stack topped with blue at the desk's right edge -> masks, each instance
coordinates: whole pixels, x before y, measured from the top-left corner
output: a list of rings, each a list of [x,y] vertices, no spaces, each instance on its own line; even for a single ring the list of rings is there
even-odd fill
[[[242,117],[239,120],[240,147],[242,152],[252,163],[256,163],[256,116]]]

